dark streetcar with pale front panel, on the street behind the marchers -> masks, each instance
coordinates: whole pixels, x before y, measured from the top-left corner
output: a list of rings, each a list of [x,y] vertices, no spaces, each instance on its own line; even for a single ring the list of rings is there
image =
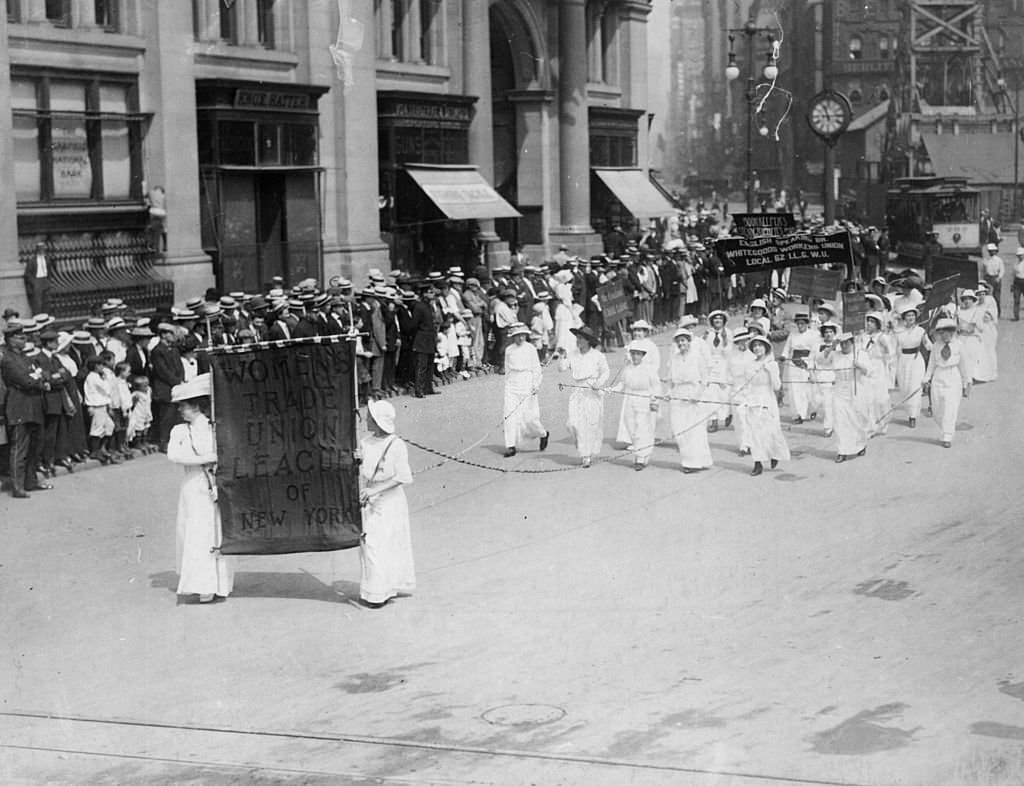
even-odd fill
[[[886,221],[896,259],[890,272],[914,270],[927,281],[977,266],[980,193],[964,177],[901,177],[886,194]],[[974,258],[974,259],[972,259]]]

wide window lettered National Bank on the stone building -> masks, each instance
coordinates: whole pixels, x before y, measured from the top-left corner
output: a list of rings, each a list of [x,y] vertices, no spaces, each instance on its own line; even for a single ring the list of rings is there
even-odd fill
[[[18,202],[141,199],[143,117],[133,79],[11,77]]]

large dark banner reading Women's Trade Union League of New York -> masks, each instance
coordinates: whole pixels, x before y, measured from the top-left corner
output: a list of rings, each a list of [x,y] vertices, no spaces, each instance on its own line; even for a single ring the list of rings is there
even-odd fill
[[[210,353],[223,554],[359,544],[354,356],[335,339]]]

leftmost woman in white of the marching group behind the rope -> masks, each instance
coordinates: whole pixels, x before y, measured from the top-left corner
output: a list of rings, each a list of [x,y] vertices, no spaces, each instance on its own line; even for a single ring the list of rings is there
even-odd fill
[[[515,455],[524,439],[541,440],[541,450],[548,447],[548,430],[541,423],[541,358],[537,347],[526,339],[529,328],[522,322],[509,325],[512,342],[505,348],[505,457]]]

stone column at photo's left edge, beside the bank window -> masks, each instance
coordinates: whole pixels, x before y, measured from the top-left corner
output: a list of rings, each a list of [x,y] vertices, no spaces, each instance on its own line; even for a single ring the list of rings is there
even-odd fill
[[[0,16],[0,44],[7,48],[7,14]],[[14,131],[10,113],[10,59],[0,57],[0,303],[29,315],[29,301],[17,257],[17,196],[14,194]]]

